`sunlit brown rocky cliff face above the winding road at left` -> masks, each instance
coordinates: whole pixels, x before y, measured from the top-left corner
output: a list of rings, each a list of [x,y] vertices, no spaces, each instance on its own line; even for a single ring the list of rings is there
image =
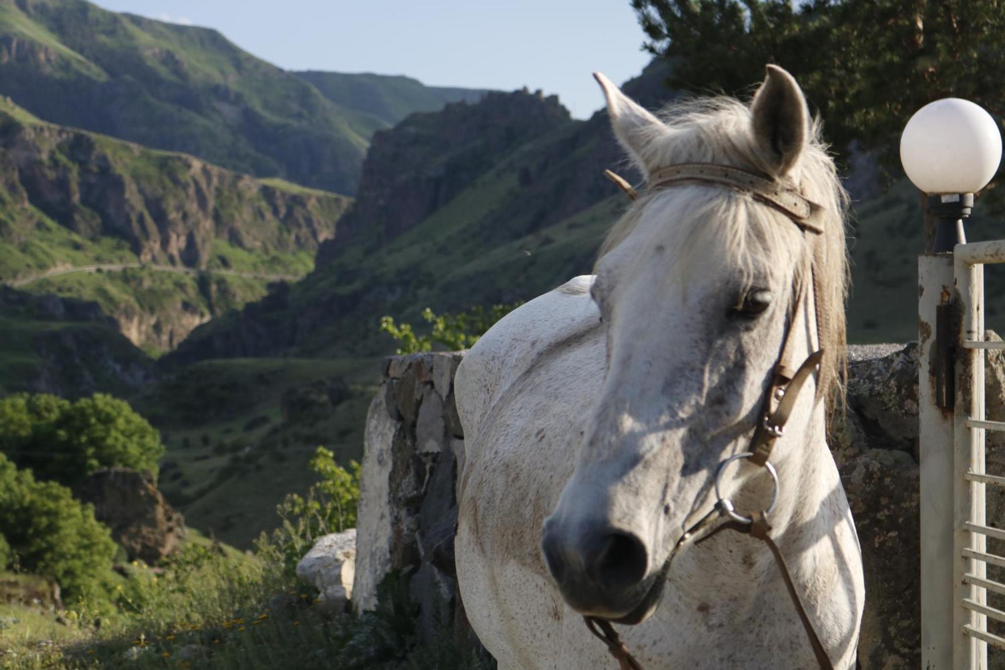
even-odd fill
[[[206,268],[214,243],[260,254],[313,250],[350,199],[260,181],[183,154],[153,151],[33,119],[0,104],[0,188],[23,248],[46,216],[80,237],[121,240],[141,261]],[[13,264],[5,264],[9,266]],[[11,279],[48,268],[0,268]]]

